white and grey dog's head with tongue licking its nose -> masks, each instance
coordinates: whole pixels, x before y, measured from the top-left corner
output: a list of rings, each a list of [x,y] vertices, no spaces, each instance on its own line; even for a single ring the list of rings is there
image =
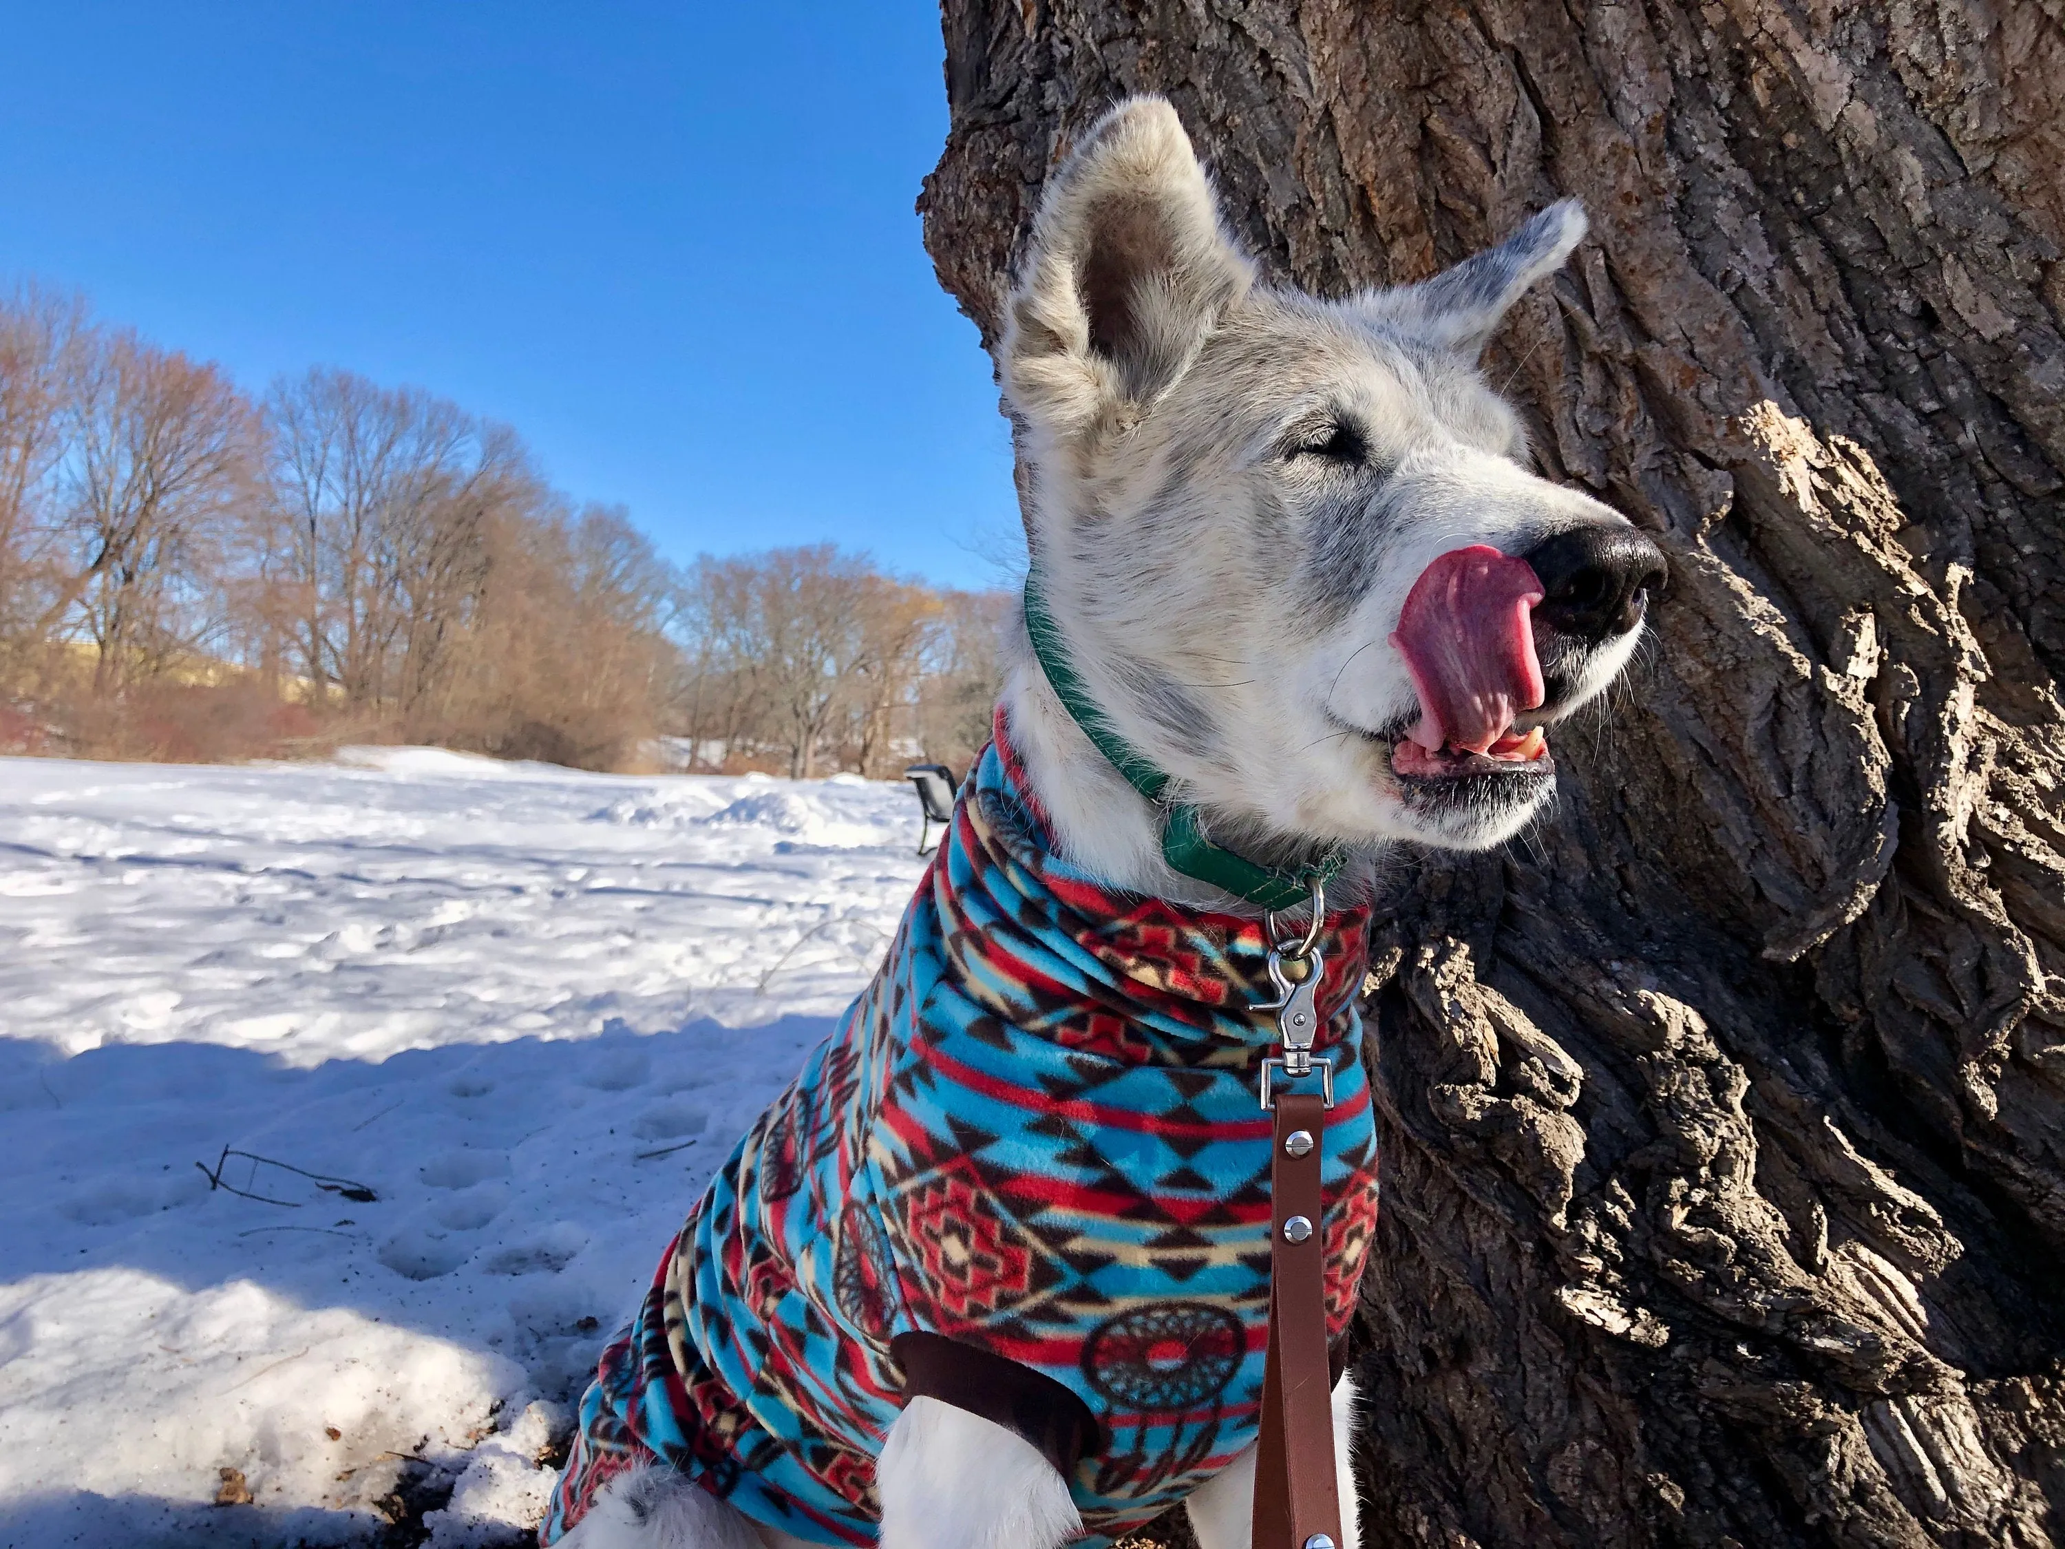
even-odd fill
[[[1522,467],[1476,370],[1584,235],[1555,204],[1406,289],[1268,289],[1161,99],[1051,180],[1004,384],[1032,564],[1115,729],[1258,855],[1481,849],[1555,785],[1662,556]]]

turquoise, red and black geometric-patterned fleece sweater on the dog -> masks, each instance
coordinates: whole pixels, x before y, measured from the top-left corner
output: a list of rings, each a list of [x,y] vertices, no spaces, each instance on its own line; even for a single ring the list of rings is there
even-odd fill
[[[1324,938],[1334,1338],[1377,1210],[1367,934],[1342,911]],[[603,1353],[541,1543],[663,1460],[758,1522],[871,1545],[876,1456],[921,1390],[915,1357],[942,1351],[968,1355],[964,1394],[1030,1369],[1082,1415],[1080,1446],[1047,1450],[1084,1543],[1239,1456],[1268,1326],[1266,954],[1256,921],[1117,894],[1053,855],[999,710],[882,971]]]

